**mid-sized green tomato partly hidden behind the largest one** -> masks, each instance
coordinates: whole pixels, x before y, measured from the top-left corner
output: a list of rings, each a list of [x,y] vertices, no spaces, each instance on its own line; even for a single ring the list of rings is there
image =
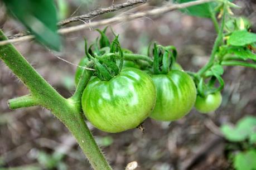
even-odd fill
[[[196,101],[196,86],[186,72],[172,70],[168,74],[152,75],[152,80],[157,100],[151,118],[177,120],[190,112]]]

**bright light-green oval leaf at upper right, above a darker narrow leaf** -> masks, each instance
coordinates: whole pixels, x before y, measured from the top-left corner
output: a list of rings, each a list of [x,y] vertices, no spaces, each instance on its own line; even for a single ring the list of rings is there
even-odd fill
[[[234,31],[228,38],[228,44],[233,46],[244,46],[256,42],[256,33],[246,30]]]

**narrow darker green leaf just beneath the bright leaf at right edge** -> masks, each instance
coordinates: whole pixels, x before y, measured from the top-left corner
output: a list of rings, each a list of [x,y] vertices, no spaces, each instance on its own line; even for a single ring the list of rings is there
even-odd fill
[[[256,60],[256,54],[248,49],[244,49],[243,47],[231,47],[228,50],[229,54],[234,54],[242,60],[252,59]]]

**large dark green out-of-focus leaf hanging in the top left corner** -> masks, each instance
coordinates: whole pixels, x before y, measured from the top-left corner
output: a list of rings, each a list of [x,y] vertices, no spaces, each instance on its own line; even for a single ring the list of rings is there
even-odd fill
[[[38,41],[59,50],[60,36],[57,34],[57,14],[52,0],[4,0],[9,11],[17,17]]]

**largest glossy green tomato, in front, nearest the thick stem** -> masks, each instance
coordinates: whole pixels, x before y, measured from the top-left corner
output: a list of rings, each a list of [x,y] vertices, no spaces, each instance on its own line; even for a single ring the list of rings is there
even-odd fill
[[[98,77],[91,80],[81,102],[91,124],[117,133],[136,128],[149,116],[156,102],[156,88],[149,75],[127,67],[109,81]]]

